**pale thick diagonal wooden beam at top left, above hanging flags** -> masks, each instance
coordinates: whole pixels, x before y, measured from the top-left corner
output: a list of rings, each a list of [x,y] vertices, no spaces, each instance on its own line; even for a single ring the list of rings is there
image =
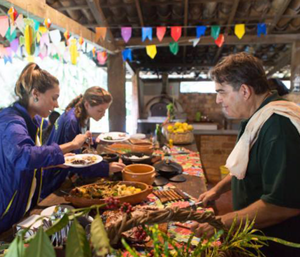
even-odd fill
[[[62,32],[68,28],[72,34],[78,37],[81,35],[85,41],[98,45],[110,53],[116,49],[110,42],[96,42],[96,34],[94,32],[39,0],[30,0],[28,2],[24,0],[0,0],[0,5],[7,8],[13,5],[18,13],[23,13],[24,15],[29,13],[29,17],[35,18],[40,22],[43,22],[44,18],[48,17],[51,19],[52,28],[57,28]]]

